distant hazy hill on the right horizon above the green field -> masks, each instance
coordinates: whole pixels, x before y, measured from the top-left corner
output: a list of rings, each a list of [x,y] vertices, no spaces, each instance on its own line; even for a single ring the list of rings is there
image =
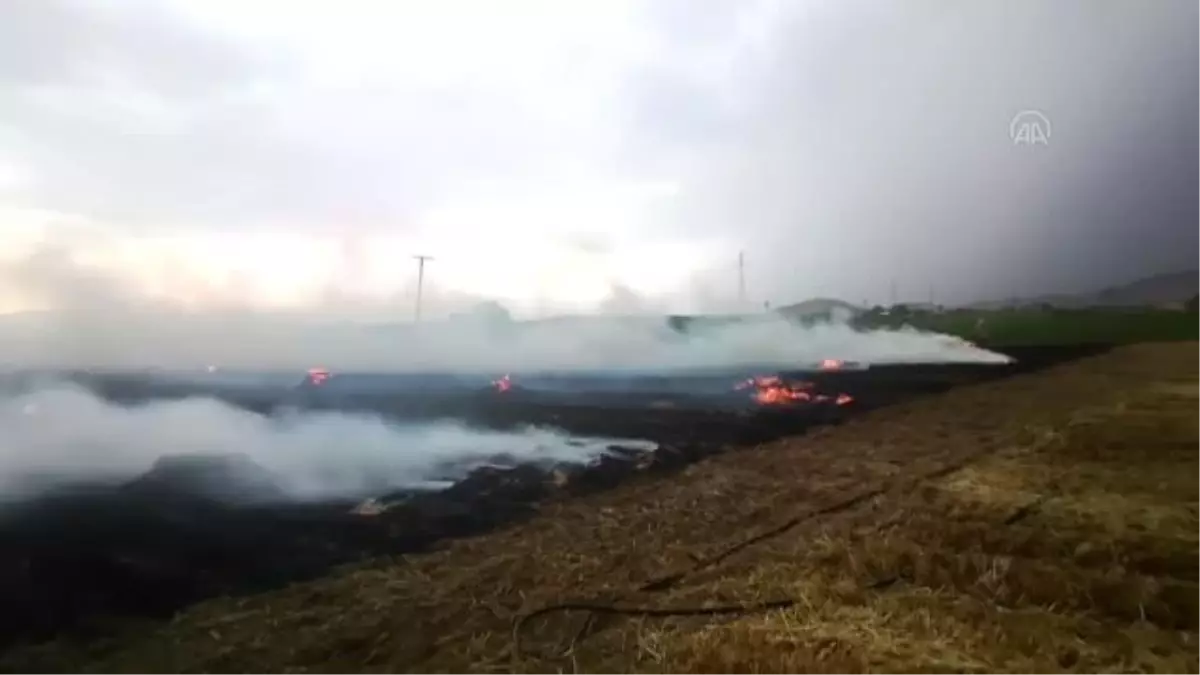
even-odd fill
[[[976,303],[971,309],[992,310],[1028,305],[1050,305],[1062,309],[1081,307],[1139,307],[1139,306],[1182,306],[1200,293],[1200,269],[1157,274],[1126,283],[1110,286],[1094,293],[1049,294],[1032,298],[1013,298]]]

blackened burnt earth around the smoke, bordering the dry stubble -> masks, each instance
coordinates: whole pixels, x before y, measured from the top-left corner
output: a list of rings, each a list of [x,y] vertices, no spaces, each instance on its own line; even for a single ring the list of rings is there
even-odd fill
[[[245,593],[323,575],[356,560],[414,552],[438,540],[517,522],[538,502],[655,479],[715,452],[838,424],[874,407],[1004,377],[1103,351],[1099,346],[1006,350],[1010,365],[904,365],[803,374],[820,390],[846,393],[848,406],[761,407],[738,399],[664,398],[660,392],[558,400],[472,392],[316,401],[392,417],[451,417],[506,429],[547,425],[576,435],[644,438],[656,449],[611,447],[589,466],[488,466],[438,491],[296,504],[281,501],[274,477],[244,455],[170,456],[121,485],[60,490],[0,507],[0,645],[103,632],[113,617],[162,617],[216,595]],[[163,390],[131,378],[89,382],[110,400],[137,404],[203,392]],[[156,388],[157,387],[157,388]],[[262,393],[218,395],[259,412],[295,406]],[[509,395],[515,394],[515,395]],[[606,398],[607,396],[607,398]],[[420,400],[415,400],[420,404]]]

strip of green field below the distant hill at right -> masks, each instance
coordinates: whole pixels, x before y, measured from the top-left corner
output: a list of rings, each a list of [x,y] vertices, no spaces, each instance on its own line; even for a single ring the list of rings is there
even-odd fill
[[[1170,310],[953,310],[871,312],[864,328],[912,325],[991,346],[1164,342],[1200,340],[1200,312]]]

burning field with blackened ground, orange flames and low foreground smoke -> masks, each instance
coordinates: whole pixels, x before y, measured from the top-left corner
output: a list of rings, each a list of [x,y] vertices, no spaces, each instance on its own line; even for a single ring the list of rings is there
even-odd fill
[[[698,459],[1079,356],[796,371],[380,378],[283,388],[74,377],[11,393],[6,643],[428,550]],[[416,378],[414,382],[413,378]],[[86,448],[82,453],[79,448]],[[616,533],[614,533],[616,536]]]

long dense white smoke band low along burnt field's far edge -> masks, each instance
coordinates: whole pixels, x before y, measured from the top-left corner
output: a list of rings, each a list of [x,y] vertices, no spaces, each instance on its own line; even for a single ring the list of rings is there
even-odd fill
[[[802,327],[774,315],[674,331],[666,317],[572,317],[490,323],[463,318],[412,325],[312,324],[241,316],[168,316],[151,321],[52,324],[36,340],[10,342],[16,364],[37,366],[509,372],[666,371],[822,359],[866,363],[978,362],[1006,357],[946,335],[913,329],[859,331],[845,323]],[[11,362],[12,363],[12,362]]]

